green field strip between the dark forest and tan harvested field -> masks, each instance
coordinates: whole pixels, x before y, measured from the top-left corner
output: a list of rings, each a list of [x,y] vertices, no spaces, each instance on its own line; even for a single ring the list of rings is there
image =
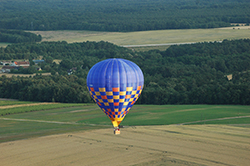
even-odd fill
[[[58,108],[52,108],[52,105],[31,106],[33,109],[37,107],[36,111],[0,116],[0,142],[72,131],[112,129],[108,117],[95,104],[62,108],[63,105],[59,104]],[[9,110],[15,112],[18,109],[29,108],[25,106]],[[250,127],[250,106],[135,105],[121,123],[124,127],[169,124],[231,124]]]

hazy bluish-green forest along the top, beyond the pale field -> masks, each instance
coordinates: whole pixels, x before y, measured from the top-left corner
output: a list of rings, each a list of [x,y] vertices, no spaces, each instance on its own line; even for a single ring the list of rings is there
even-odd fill
[[[250,23],[249,0],[2,0],[0,28],[145,31]]]

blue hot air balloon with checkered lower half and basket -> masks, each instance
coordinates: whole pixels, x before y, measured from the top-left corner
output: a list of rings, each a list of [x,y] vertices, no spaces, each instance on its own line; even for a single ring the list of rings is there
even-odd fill
[[[89,93],[111,120],[114,134],[120,134],[119,125],[139,98],[143,84],[141,69],[129,60],[106,59],[90,69]]]

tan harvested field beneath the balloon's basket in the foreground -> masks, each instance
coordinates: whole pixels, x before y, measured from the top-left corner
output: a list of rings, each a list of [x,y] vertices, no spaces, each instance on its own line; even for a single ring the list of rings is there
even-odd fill
[[[167,125],[100,129],[0,144],[1,165],[247,166],[250,128]]]

